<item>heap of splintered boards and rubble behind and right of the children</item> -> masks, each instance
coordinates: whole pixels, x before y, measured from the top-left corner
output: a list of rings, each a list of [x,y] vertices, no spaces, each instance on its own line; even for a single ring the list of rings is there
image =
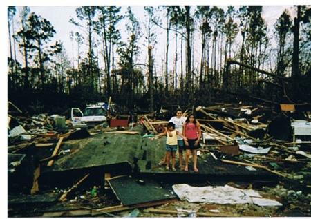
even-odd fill
[[[302,189],[310,190],[310,111],[276,113],[274,107],[220,104],[198,106],[185,111],[184,116],[189,113],[196,113],[201,124],[203,146],[198,154],[209,153],[216,160],[246,166],[249,171],[265,169],[282,178],[299,180]],[[148,133],[162,131],[167,121],[147,116],[143,115],[142,120]]]

